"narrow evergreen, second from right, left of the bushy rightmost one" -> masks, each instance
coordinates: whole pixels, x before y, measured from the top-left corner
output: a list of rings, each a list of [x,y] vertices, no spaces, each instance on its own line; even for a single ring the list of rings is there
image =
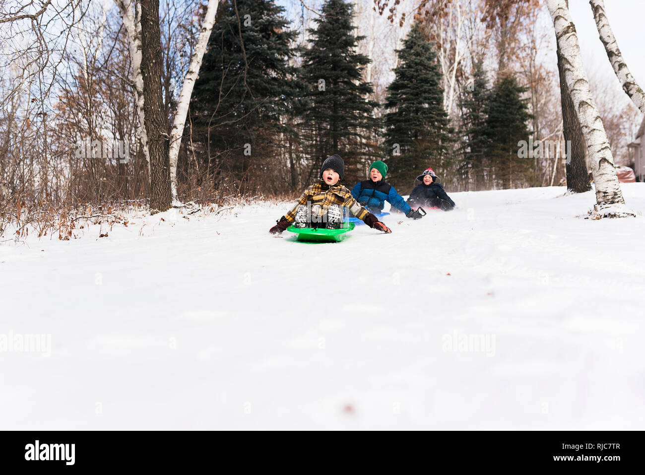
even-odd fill
[[[489,97],[486,72],[482,61],[477,61],[473,72],[473,81],[468,83],[460,106],[462,154],[459,172],[466,184],[466,190],[484,188],[484,172],[488,168],[486,161],[486,104]]]

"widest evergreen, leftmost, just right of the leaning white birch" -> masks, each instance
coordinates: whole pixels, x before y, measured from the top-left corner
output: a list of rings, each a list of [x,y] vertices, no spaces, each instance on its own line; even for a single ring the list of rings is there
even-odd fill
[[[268,168],[284,116],[299,96],[284,8],[273,0],[221,0],[191,100],[194,137],[218,173],[246,181],[250,165]],[[195,138],[194,138],[195,139]]]

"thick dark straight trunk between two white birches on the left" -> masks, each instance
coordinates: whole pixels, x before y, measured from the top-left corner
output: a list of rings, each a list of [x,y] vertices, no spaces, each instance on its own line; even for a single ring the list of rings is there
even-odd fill
[[[161,86],[159,0],[141,1],[141,46],[144,125],[150,151],[150,212],[154,214],[172,206],[169,141]]]

